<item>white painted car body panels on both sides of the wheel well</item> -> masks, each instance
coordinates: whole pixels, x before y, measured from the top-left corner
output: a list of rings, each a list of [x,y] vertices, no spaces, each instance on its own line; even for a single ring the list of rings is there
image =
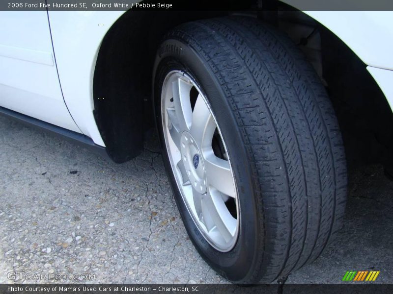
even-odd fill
[[[123,13],[1,11],[0,106],[105,147],[92,112],[93,74],[101,42]],[[305,13],[359,56],[393,108],[393,12]]]

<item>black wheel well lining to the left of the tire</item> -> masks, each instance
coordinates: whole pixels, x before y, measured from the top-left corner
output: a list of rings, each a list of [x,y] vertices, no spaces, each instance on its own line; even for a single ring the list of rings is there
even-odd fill
[[[151,74],[164,34],[181,23],[223,12],[127,11],[105,35],[94,79],[94,118],[111,158],[125,162],[143,148],[152,128]]]

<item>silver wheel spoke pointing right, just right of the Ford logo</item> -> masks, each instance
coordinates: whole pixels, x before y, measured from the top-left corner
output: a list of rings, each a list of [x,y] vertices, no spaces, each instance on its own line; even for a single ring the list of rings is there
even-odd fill
[[[205,169],[208,184],[221,193],[236,197],[229,162],[214,155],[213,150],[205,152]]]

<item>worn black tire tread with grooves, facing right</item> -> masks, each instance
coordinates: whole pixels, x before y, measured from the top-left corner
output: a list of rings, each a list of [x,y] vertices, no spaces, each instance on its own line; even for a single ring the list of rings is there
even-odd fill
[[[180,25],[231,106],[254,175],[263,242],[249,280],[270,282],[317,258],[342,225],[346,162],[321,81],[281,32],[247,17]]]

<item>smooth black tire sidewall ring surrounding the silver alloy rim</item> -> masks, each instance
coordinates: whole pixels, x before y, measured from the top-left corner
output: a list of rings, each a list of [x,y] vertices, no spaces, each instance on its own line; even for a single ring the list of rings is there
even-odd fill
[[[249,167],[246,147],[243,143],[241,130],[238,128],[233,115],[235,105],[226,98],[220,86],[219,78],[212,71],[214,65],[204,61],[190,45],[181,40],[168,39],[163,42],[156,56],[153,70],[153,102],[156,126],[159,134],[163,161],[169,182],[175,196],[180,215],[185,224],[190,239],[206,262],[217,272],[230,281],[242,283],[255,275],[257,255],[262,254],[263,216],[256,209],[258,199],[255,198],[255,188],[252,171]],[[168,151],[166,148],[162,118],[161,90],[166,75],[173,70],[190,74],[208,99],[217,123],[220,127],[238,190],[240,206],[240,228],[236,245],[229,252],[220,252],[212,247],[202,236],[188,213],[172,172]]]

